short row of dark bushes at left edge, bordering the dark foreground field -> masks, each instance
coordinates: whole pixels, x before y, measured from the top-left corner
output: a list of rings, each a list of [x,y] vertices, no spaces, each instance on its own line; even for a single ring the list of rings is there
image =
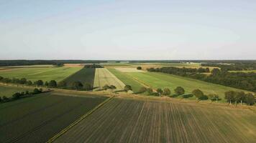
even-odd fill
[[[29,91],[16,92],[12,95],[12,97],[6,97],[6,96],[0,97],[0,102],[11,102],[11,101],[20,99],[22,97],[32,96],[40,93],[42,93],[42,89],[37,89],[37,88],[35,88],[32,92],[29,92]]]

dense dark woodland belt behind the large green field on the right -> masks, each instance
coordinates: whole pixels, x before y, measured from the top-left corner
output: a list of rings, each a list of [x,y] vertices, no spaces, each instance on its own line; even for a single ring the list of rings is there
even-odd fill
[[[214,84],[221,84],[227,87],[245,89],[256,92],[256,73],[228,72],[220,69],[213,69],[210,75],[201,74],[190,68],[162,67],[147,69],[150,72],[163,72],[175,74],[182,77],[189,77]]]

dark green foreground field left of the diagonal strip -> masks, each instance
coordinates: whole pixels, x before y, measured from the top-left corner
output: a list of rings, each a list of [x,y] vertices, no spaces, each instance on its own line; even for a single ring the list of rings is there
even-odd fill
[[[0,104],[0,142],[46,142],[105,99],[47,93]]]

